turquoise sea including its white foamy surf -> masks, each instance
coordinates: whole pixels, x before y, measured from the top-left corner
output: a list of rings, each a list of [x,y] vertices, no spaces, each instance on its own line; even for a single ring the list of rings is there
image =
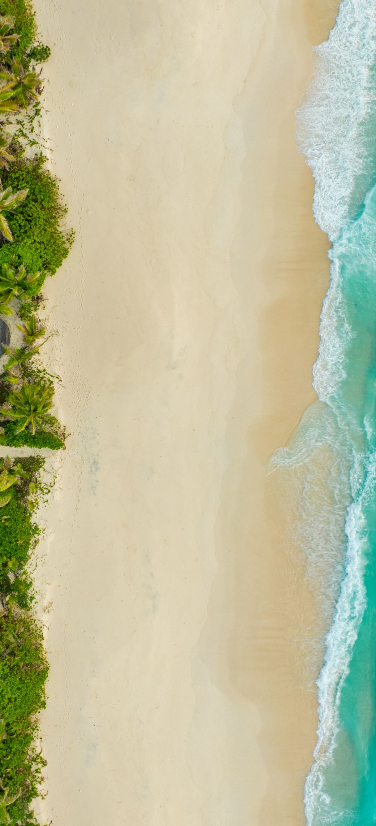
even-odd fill
[[[307,823],[370,826],[376,824],[376,0],[343,0],[316,52],[298,109],[298,143],[313,169],[316,221],[331,241],[331,284],[313,368],[319,401],[272,461],[290,473],[305,468],[297,529],[331,618],[317,680],[317,747],[304,790]]]

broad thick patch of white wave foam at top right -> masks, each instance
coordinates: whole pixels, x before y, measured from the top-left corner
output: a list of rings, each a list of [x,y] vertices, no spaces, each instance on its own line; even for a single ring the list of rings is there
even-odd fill
[[[316,181],[317,224],[334,240],[375,174],[374,0],[343,0],[328,40],[314,51],[313,78],[297,112],[298,148]]]

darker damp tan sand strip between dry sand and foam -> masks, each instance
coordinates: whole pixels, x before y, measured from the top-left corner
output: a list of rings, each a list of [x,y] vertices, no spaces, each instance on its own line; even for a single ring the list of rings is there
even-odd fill
[[[317,400],[312,368],[329,284],[331,244],[314,221],[314,181],[296,150],[294,112],[313,70],[309,46],[327,39],[338,5],[317,3],[317,11],[322,10],[318,21],[308,4],[297,11],[293,2],[281,3],[274,39],[280,59],[271,68],[267,61],[259,68],[256,89],[255,73],[251,74],[248,94],[246,85],[235,107],[251,113],[243,121],[249,147],[243,162],[246,220],[243,225],[239,221],[232,249],[246,319],[250,310],[250,344],[239,365],[238,392],[228,420],[231,459],[216,526],[219,573],[211,597],[213,616],[201,635],[200,652],[222,691],[234,702],[251,701],[261,712],[257,743],[268,781],[257,826],[270,826],[276,819],[280,826],[305,823],[303,784],[317,739],[315,668],[310,672],[302,662],[316,643],[312,629],[317,602],[305,576],[303,552],[290,537],[289,519],[294,515],[284,502],[286,491],[268,474],[271,454],[288,442],[303,412]],[[287,91],[277,102],[281,86]],[[255,157],[262,159],[257,170]],[[273,165],[274,177],[266,177],[265,170]],[[250,181],[256,184],[256,199]],[[253,203],[261,202],[251,233],[247,187]],[[245,262],[251,262],[248,272]],[[261,274],[256,284],[251,273]],[[256,306],[258,324],[252,339]],[[219,624],[223,605],[226,619]],[[226,651],[219,662],[212,652],[221,644],[218,628],[224,626]],[[317,666],[317,655],[315,660]]]

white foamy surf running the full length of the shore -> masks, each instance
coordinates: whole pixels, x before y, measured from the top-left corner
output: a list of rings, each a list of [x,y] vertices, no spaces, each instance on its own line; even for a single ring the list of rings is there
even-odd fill
[[[371,452],[373,422],[364,421],[365,433],[360,433],[363,429],[356,411],[351,411],[341,394],[341,382],[349,367],[348,348],[355,335],[346,317],[342,293],[343,278],[349,275],[346,261],[352,248],[357,253],[357,263],[364,266],[368,276],[369,268],[374,269],[376,255],[374,216],[367,215],[367,199],[360,217],[364,197],[376,179],[375,0],[342,0],[336,25],[315,52],[313,77],[298,107],[297,131],[298,147],[315,178],[314,216],[334,244],[330,254],[331,284],[322,307],[319,353],[313,367],[313,387],[320,401],[303,416],[289,446],[275,452],[272,466],[289,472],[290,468],[307,463],[304,478],[311,485],[311,465],[312,471],[315,461],[320,467],[320,456],[325,458],[322,445],[327,445],[333,467],[329,477],[330,525],[322,527],[312,509],[315,491],[310,496],[303,489],[300,501],[305,527],[298,530],[306,540],[303,544],[308,571],[325,570],[325,554],[336,561],[339,527],[345,544],[345,572],[336,591],[338,598],[326,638],[325,661],[317,680],[317,746],[304,787],[307,824],[323,826],[341,822],[341,813],[335,810],[325,788],[326,769],[335,752],[342,687],[366,609],[364,558],[368,537],[364,508],[374,497],[376,487],[376,453]],[[369,192],[369,199],[372,196]],[[322,467],[325,470],[325,463]],[[326,478],[323,477],[324,482]],[[323,482],[317,484],[319,492],[320,485]],[[328,517],[327,501],[330,502],[323,495],[319,499],[320,505],[324,505],[323,520]],[[336,524],[331,529],[333,520]],[[313,527],[322,537],[315,537]],[[339,586],[338,580],[328,591],[330,596],[336,584]]]

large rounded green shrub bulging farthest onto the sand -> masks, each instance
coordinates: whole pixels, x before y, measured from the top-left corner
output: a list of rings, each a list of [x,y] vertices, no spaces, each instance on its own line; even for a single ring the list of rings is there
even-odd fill
[[[40,292],[46,273],[53,275],[63,263],[73,244],[73,231],[64,233],[61,221],[67,207],[62,202],[59,183],[45,166],[43,154],[34,159],[19,159],[2,171],[2,186],[13,190],[28,189],[25,201],[9,216],[14,243],[0,247],[0,264],[14,256],[18,266],[24,263],[28,273],[41,270],[40,279],[31,287],[31,296]]]

